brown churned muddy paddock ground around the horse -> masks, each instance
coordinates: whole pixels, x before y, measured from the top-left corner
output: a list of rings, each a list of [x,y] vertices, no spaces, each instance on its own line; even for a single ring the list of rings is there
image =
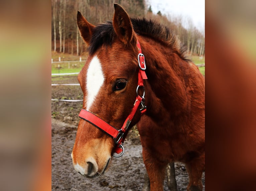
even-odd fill
[[[76,76],[52,77],[52,84],[78,83]],[[80,86],[53,86],[54,99],[82,99]],[[142,147],[136,128],[133,128],[125,141],[125,153],[120,158],[112,158],[108,171],[102,178],[88,179],[74,172],[71,152],[76,138],[81,102],[52,101],[52,190],[71,191],[139,191],[142,190],[146,172]],[[185,191],[188,175],[182,163],[175,163],[177,188]],[[205,190],[205,173],[203,173]],[[164,190],[168,191],[167,182]]]

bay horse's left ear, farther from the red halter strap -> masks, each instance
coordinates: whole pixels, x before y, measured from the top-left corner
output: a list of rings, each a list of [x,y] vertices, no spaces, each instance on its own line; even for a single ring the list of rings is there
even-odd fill
[[[79,11],[77,12],[77,25],[81,36],[83,37],[86,44],[89,45],[95,26],[89,23]]]

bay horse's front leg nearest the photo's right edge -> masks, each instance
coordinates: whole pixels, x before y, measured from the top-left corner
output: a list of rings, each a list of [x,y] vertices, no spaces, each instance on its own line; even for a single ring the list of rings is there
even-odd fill
[[[202,191],[202,174],[205,169],[205,153],[186,163],[189,176],[187,191]]]

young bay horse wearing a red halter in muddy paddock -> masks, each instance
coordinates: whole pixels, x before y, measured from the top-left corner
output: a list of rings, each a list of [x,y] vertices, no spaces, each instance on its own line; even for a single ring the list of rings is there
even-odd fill
[[[150,190],[163,190],[165,167],[174,161],[186,165],[187,190],[202,190],[204,77],[168,27],[114,8],[113,21],[97,26],[77,14],[89,56],[78,75],[84,97],[74,168],[88,178],[103,175],[137,124]]]

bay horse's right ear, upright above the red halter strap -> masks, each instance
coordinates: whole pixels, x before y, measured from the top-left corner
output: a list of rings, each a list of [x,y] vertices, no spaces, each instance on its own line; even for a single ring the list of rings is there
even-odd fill
[[[120,39],[125,45],[131,42],[134,31],[132,28],[132,23],[130,17],[126,11],[117,3],[114,3],[115,14],[113,17],[113,27],[114,30]]]

